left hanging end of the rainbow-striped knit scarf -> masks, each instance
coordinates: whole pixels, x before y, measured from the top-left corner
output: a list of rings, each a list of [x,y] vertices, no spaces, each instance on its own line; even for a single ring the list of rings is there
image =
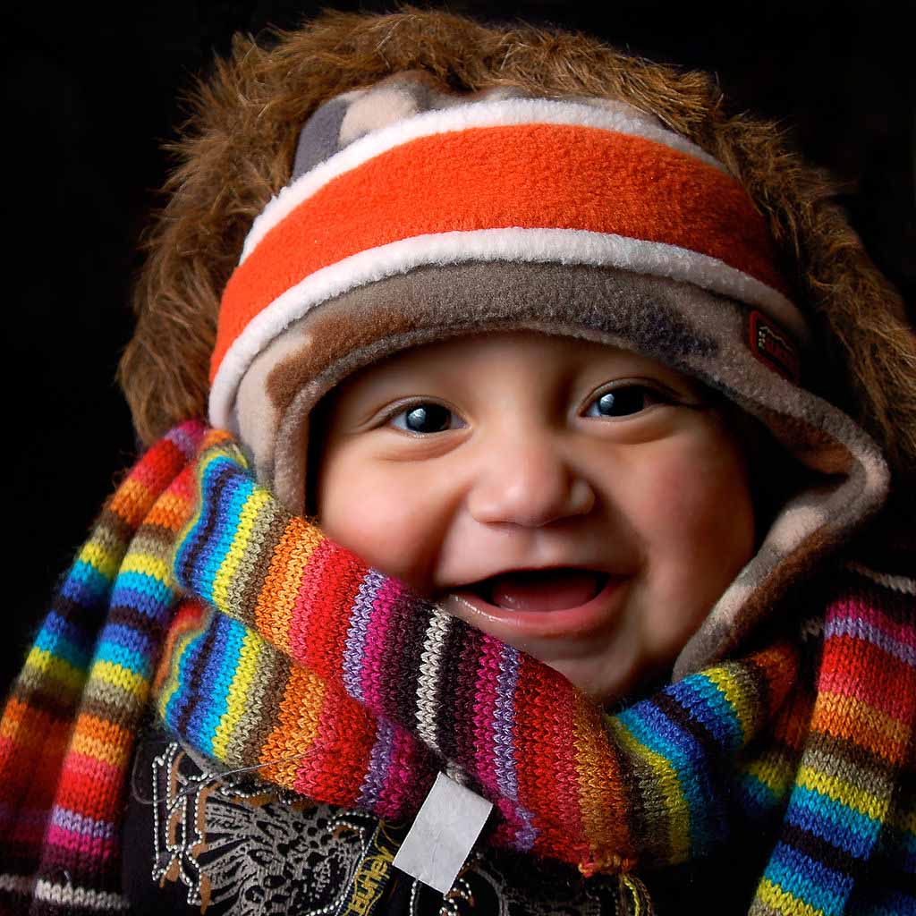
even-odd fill
[[[14,684],[0,720],[0,912],[126,910],[120,811],[203,431],[169,432],[106,503]]]

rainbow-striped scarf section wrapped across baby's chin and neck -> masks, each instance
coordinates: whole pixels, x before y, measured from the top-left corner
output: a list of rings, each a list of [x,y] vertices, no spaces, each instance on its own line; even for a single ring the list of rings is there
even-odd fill
[[[789,691],[787,646],[605,718],[562,675],[446,616],[289,515],[217,434],[175,576],[213,607],[159,692],[169,729],[233,768],[401,819],[438,769],[496,803],[495,842],[586,871],[678,862],[722,829],[713,761]],[[717,728],[709,724],[715,720]],[[632,791],[661,795],[631,811]]]

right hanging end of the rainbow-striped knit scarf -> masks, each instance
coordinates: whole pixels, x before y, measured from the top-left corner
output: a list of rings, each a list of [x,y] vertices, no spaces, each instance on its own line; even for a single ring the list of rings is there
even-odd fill
[[[914,618],[912,590],[878,604],[860,586],[829,606],[812,714],[753,916],[916,913]],[[784,784],[779,770],[760,770],[760,782]]]

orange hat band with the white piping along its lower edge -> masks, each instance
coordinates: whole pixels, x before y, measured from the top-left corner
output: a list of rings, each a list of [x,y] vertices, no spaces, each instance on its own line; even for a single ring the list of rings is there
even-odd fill
[[[497,231],[514,235],[496,245]],[[540,234],[519,241],[525,231]],[[539,251],[544,231],[550,245]],[[596,240],[627,246],[596,255]],[[477,259],[600,263],[675,278],[692,260],[703,275],[698,285],[733,295],[737,288],[737,298],[756,287],[758,299],[792,309],[768,227],[722,169],[587,125],[446,131],[334,175],[259,238],[224,291],[211,365],[224,405],[217,412],[267,340],[322,299],[420,264]],[[220,377],[232,349],[234,365]]]

